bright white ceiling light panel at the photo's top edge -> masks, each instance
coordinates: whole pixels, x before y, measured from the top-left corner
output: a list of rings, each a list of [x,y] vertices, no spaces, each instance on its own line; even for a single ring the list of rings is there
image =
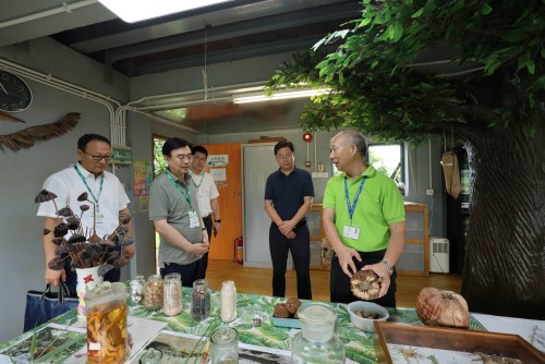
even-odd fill
[[[98,0],[126,23],[164,16],[232,0]]]

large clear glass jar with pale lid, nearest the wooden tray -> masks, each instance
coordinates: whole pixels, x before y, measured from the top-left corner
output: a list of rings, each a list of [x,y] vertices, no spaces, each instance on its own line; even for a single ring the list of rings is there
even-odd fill
[[[335,335],[337,313],[329,305],[303,304],[298,310],[298,317],[301,331],[293,338],[292,363],[344,363],[344,345]]]

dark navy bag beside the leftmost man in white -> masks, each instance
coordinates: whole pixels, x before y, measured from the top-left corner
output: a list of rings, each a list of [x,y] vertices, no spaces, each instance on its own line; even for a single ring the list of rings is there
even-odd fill
[[[26,292],[25,331],[34,329],[66,311],[77,307],[78,300],[70,298],[69,289],[64,282],[59,286],[59,292],[51,292],[47,284],[44,292]]]

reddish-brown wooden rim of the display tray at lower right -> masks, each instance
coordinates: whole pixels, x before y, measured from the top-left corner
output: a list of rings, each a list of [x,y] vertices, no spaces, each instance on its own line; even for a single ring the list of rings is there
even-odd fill
[[[378,363],[393,363],[397,354],[388,344],[482,352],[518,359],[524,364],[545,363],[545,355],[518,335],[375,321],[374,341]]]

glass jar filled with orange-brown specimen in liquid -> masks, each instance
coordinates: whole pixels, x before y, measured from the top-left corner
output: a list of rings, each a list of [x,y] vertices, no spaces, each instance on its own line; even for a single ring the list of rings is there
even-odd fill
[[[104,282],[85,293],[87,363],[123,363],[131,353],[126,330],[126,287]]]

